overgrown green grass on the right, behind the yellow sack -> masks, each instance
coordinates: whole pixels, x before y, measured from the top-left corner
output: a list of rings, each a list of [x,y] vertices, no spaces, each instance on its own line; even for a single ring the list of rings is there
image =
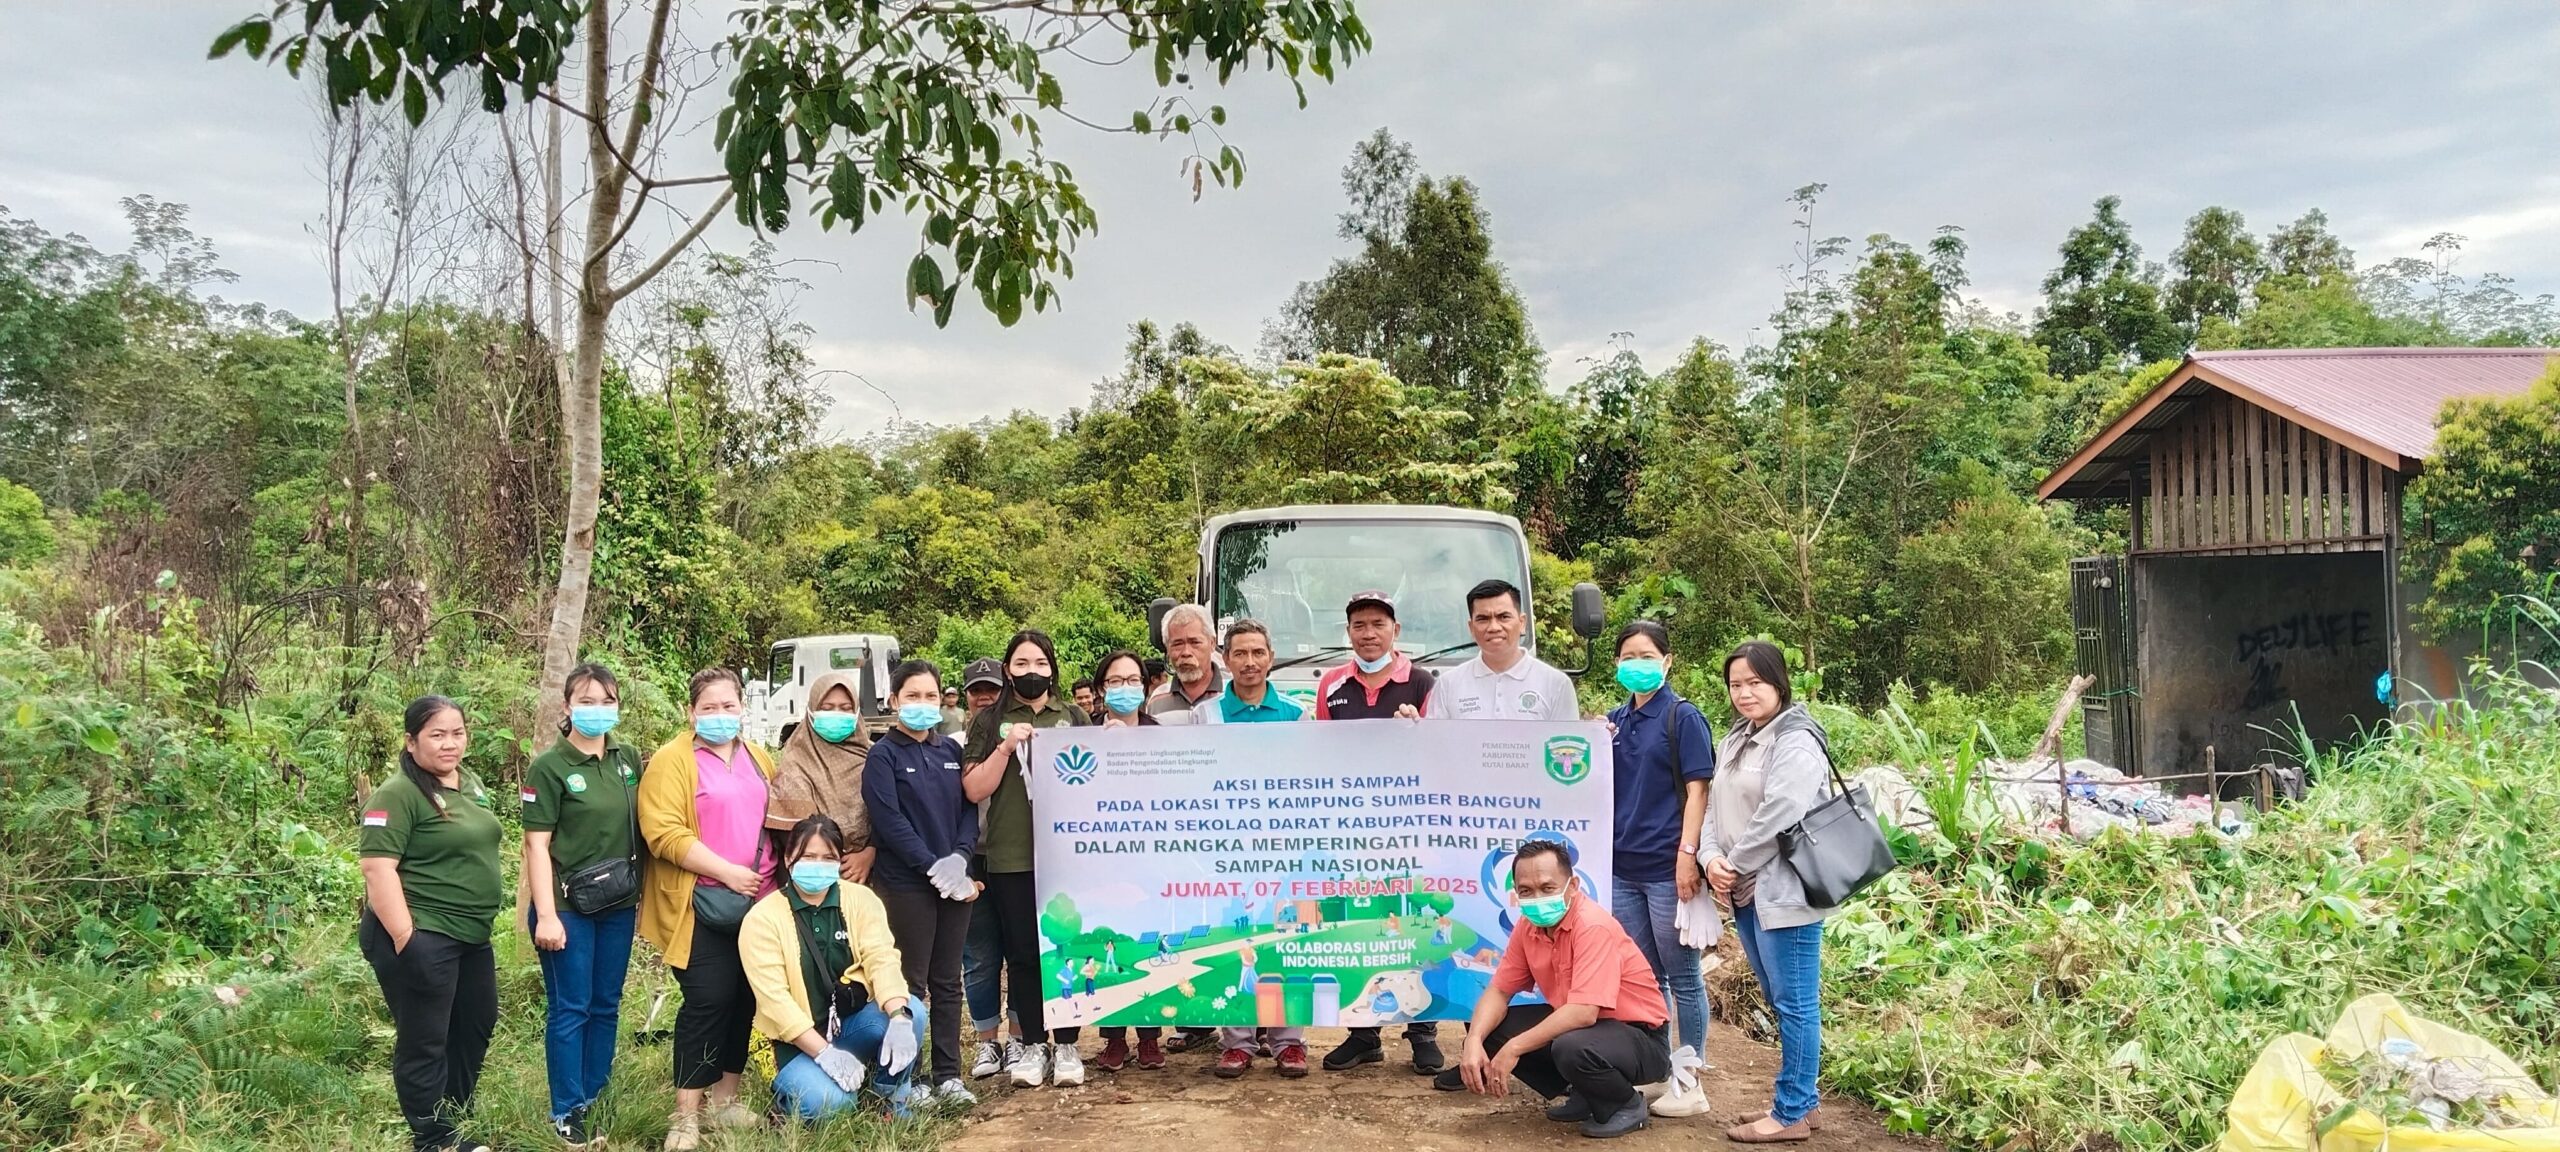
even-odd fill
[[[2319,763],[2248,840],[1915,840],[1828,927],[1825,1083],[1966,1149],[2194,1149],[2268,1039],[2373,991],[2550,1083],[2560,694],[2486,699]]]

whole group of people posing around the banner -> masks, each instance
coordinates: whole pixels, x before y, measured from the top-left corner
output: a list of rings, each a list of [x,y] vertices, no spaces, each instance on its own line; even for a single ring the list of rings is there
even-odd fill
[[[1316,681],[1313,707],[1272,681],[1270,630],[1198,604],[1162,622],[1162,684],[1134,650],[1068,684],[1055,643],[1016,632],[993,660],[945,684],[929,660],[891,668],[886,735],[863,727],[850,673],[809,686],[804,722],[776,753],[740,740],[742,691],[727,668],[686,689],[689,732],[645,763],[617,737],[620,684],[579,666],[563,684],[561,740],[522,786],[525,927],[545,1014],[550,1116],[563,1144],[594,1139],[620,1032],[632,940],[676,973],[676,1114],[666,1149],[707,1129],[840,1108],[968,1106],[970,1078],[1014,1085],[1085,1080],[1078,1029],[1042,1016],[1032,799],[1021,750],[1060,724],[1260,724],[1298,719],[1580,719],[1567,673],[1523,648],[1521,589],[1467,594],[1475,655],[1431,673],[1398,648],[1395,602],[1344,604],[1349,660]],[[1713,891],[1779,1019],[1772,1108],[1736,1142],[1805,1139],[1820,1062],[1820,940],[1830,909],[1805,904],[1777,837],[1823,791],[1820,727],[1792,701],[1782,653],[1746,643],[1725,658],[1741,724],[1720,742],[1669,689],[1661,625],[1618,635],[1626,704],[1615,742],[1613,891],[1608,909],[1574,883],[1562,845],[1523,842],[1513,888],[1523,927],[1467,1027],[1457,1062],[1434,1021],[1408,1024],[1411,1068],[1444,1091],[1503,1096],[1516,1075],[1559,1098],[1546,1114],[1590,1137],[1649,1124],[1641,1085],[1669,1075],[1674,1044],[1705,1047],[1700,950],[1674,927]],[[1091,709],[1078,704],[1078,686]],[[965,699],[965,707],[963,707]],[[366,906],[358,942],[397,1029],[392,1078],[420,1149],[461,1149],[497,1021],[492,924],[507,901],[486,786],[463,768],[458,704],[425,696],[404,714],[399,771],[364,804]],[[1513,1006],[1521,991],[1546,1004]],[[963,1062],[963,1011],[975,1052]],[[919,1019],[922,1016],[922,1019]],[[1677,1024],[1677,1032],[1674,1032]],[[1093,1062],[1165,1068],[1167,1052],[1216,1047],[1216,1075],[1262,1057],[1308,1075],[1303,1029],[1101,1029]],[[750,1044],[773,1044],[773,1101],[740,1101]],[[1352,1029],[1321,1065],[1382,1062],[1380,1029]],[[922,1065],[922,1068],[919,1068]]]

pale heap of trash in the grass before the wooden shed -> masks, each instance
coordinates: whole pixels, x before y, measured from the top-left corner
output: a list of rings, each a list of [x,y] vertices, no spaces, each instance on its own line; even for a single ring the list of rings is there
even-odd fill
[[[2056,778],[2056,771],[2061,778]],[[1866,794],[1876,801],[1876,812],[1897,827],[1925,827],[1933,822],[1928,801],[1902,768],[1879,763],[1851,781],[1866,786]],[[2230,804],[2217,812],[2207,796],[2176,796],[2097,760],[2068,760],[2061,765],[2053,760],[1981,760],[1976,781],[1989,794],[1999,819],[2025,832],[2063,835],[2066,781],[2071,788],[2068,835],[2074,840],[2094,840],[2109,827],[2163,837],[2184,837],[2199,827],[2227,837],[2245,837],[2250,832],[2250,824]]]

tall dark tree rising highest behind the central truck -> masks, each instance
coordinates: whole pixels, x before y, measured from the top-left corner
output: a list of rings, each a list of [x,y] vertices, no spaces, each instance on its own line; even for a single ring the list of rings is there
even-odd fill
[[[1413,148],[1380,128],[1352,151],[1341,192],[1352,207],[1339,230],[1359,256],[1298,284],[1267,351],[1367,356],[1408,387],[1480,407],[1539,381],[1528,307],[1492,259],[1472,182],[1418,177]]]

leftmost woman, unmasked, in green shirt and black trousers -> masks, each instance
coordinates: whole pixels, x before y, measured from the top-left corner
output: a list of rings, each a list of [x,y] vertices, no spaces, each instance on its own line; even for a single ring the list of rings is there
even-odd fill
[[[489,922],[507,904],[489,788],[463,771],[463,709],[420,696],[402,714],[399,776],[364,801],[356,942],[392,1006],[392,1088],[417,1149],[461,1149],[497,1027]],[[481,1149],[481,1144],[471,1144]]]

